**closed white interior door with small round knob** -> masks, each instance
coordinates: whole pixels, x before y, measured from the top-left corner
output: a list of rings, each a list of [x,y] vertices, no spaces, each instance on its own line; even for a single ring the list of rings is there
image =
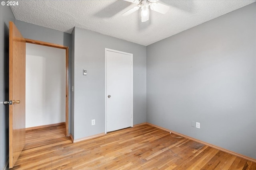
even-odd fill
[[[106,49],[106,131],[133,126],[132,54]]]

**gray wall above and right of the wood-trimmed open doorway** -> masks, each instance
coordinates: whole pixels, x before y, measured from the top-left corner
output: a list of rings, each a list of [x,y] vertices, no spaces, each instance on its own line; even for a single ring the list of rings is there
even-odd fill
[[[71,34],[16,20],[16,26],[24,38],[65,45],[69,47],[69,103],[71,101]],[[69,133],[71,133],[71,106],[69,105]]]

